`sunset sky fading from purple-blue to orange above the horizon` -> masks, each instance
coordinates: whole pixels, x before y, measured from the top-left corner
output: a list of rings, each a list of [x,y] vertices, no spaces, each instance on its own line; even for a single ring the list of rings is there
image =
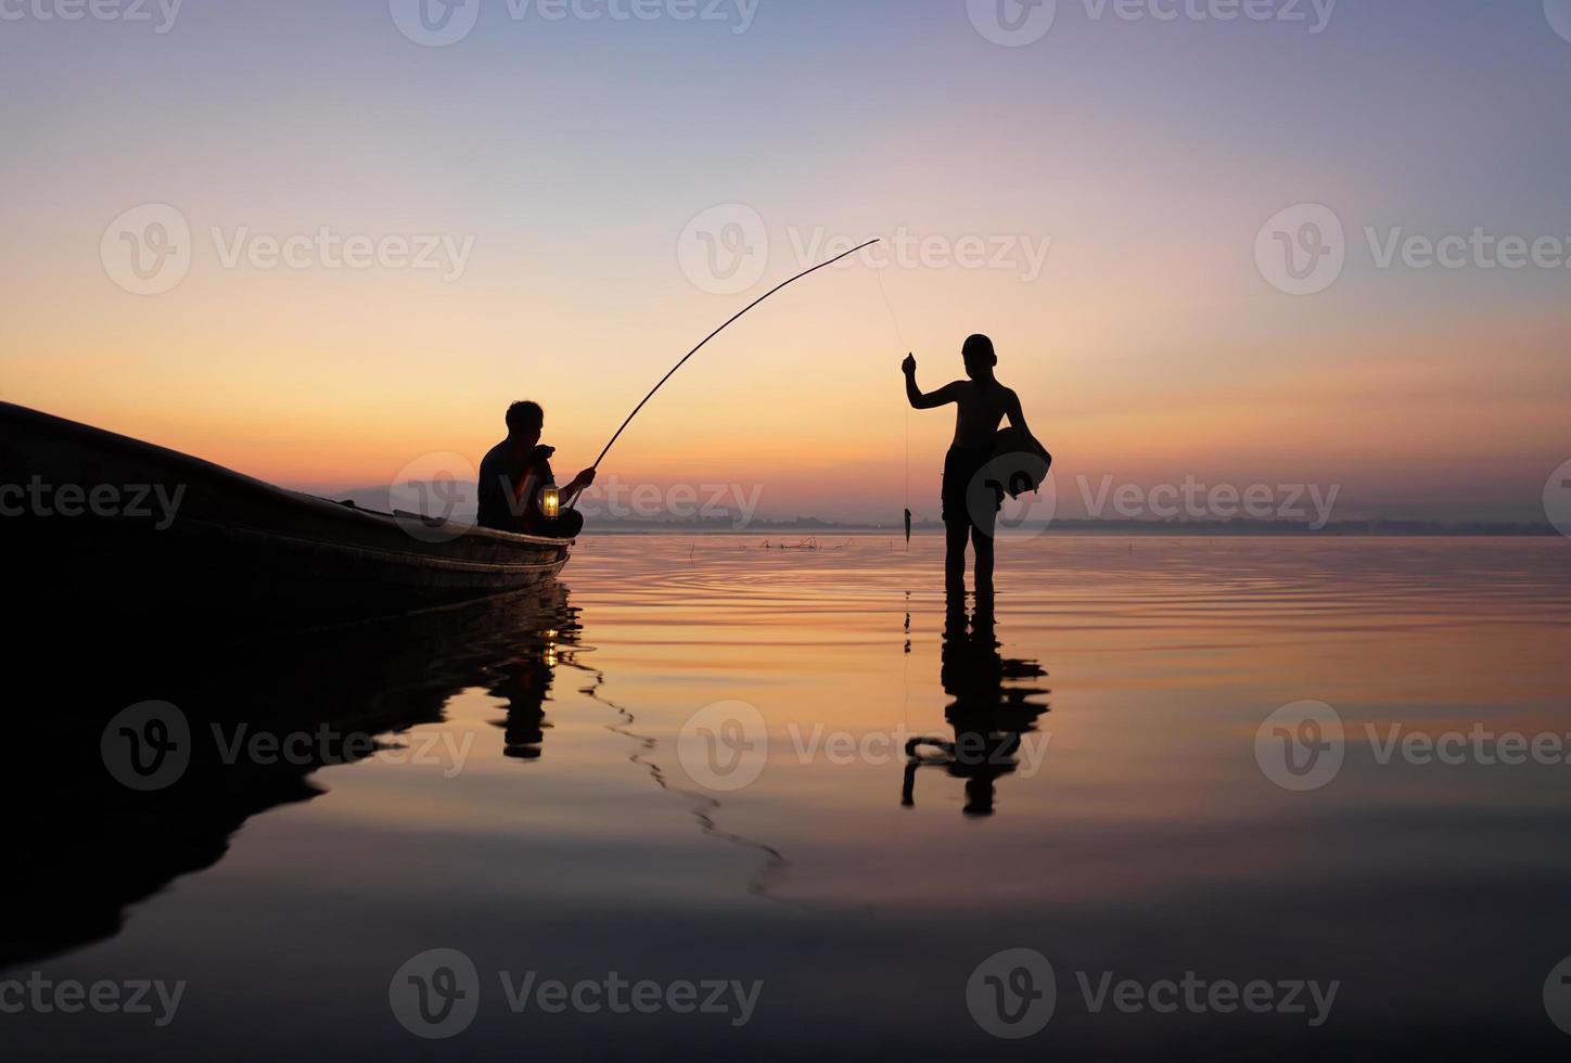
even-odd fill
[[[1060,0],[1018,47],[965,0],[470,3],[446,47],[401,30],[402,0],[192,0],[170,25],[168,0],[151,22],[0,5],[0,397],[314,490],[478,463],[537,399],[570,471],[773,283],[908,234],[925,253],[743,319],[605,473],[895,520],[910,422],[911,509],[936,517],[952,419],[908,418],[899,363],[935,388],[972,331],[1071,515],[1076,477],[1194,476],[1340,485],[1338,517],[1536,520],[1571,458],[1571,3],[1342,0],[1316,25],[1309,0],[1306,22]],[[192,234],[156,295],[105,261],[143,204]],[[1312,295],[1257,262],[1296,204],[1346,232]],[[437,239],[441,268],[258,265],[250,240],[324,228]],[[1543,262],[1381,265],[1393,236],[1480,229]],[[740,290],[694,268],[737,234]],[[955,262],[977,248],[998,264]]]

